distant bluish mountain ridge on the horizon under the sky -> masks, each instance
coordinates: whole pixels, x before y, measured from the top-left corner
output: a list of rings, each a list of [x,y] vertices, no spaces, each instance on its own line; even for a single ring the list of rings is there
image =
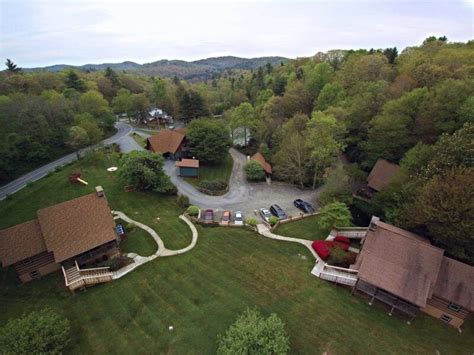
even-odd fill
[[[257,69],[267,63],[275,66],[281,62],[287,62],[288,60],[288,58],[284,57],[239,58],[226,56],[200,59],[192,62],[164,59],[146,64],[137,64],[130,61],[122,63],[85,64],[80,66],[56,64],[43,68],[29,68],[25,70],[58,72],[65,69],[77,69],[84,71],[101,71],[110,67],[116,71],[135,72],[137,74],[162,77],[174,77],[176,75],[180,79],[197,81],[210,79],[214,75],[221,74],[226,70]]]

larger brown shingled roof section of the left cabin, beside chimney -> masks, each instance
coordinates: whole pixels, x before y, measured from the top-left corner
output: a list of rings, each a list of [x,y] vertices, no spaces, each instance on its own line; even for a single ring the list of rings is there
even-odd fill
[[[38,210],[38,220],[56,262],[116,239],[107,200],[95,193]]]

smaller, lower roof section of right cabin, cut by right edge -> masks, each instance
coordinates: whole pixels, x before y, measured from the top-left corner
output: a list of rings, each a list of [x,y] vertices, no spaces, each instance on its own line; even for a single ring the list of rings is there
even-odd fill
[[[474,267],[443,257],[433,294],[474,311]]]

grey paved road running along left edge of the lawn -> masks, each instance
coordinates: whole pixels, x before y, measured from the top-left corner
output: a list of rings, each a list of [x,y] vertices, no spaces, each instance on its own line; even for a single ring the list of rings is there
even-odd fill
[[[115,133],[112,137],[109,137],[103,140],[100,144],[109,145],[112,143],[118,143],[120,144],[121,148],[123,146],[124,149],[127,151],[136,149],[136,147],[134,147],[134,144],[137,146],[138,144],[135,142],[135,140],[132,137],[128,135],[130,132],[133,131],[133,128],[130,125],[123,122],[117,122],[115,124],[115,128],[117,128],[117,133]],[[88,147],[85,149],[81,149],[79,151],[79,154],[83,154],[85,151],[95,148],[99,146],[100,144],[92,146],[92,147]],[[0,187],[0,200],[3,200],[8,194],[12,194],[22,189],[23,187],[26,186],[27,183],[41,179],[43,176],[53,171],[58,166],[70,163],[76,159],[77,159],[77,152],[74,152],[58,160],[55,160],[51,163],[48,163],[36,170],[30,171],[29,173],[23,176],[20,176],[18,179],[13,180],[12,182]]]

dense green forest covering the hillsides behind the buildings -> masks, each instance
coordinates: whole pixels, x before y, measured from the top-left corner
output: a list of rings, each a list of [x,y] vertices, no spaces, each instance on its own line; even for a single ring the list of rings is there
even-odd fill
[[[196,83],[110,68],[53,74],[15,67],[0,73],[0,183],[100,140],[112,113],[137,117],[158,106],[187,122],[222,121],[232,135],[251,137],[250,150],[265,155],[275,178],[301,187],[326,182],[338,200],[377,159],[400,164],[374,213],[474,263],[473,67],[474,42],[445,37],[401,53],[332,50]],[[343,153],[350,164],[336,168]],[[440,189],[449,191],[442,203]]]

